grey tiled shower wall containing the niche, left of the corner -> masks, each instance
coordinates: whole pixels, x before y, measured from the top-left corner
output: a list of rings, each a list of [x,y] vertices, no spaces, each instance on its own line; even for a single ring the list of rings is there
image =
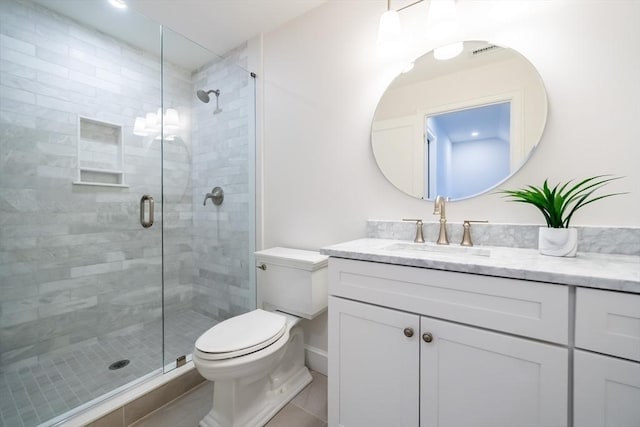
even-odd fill
[[[157,53],[2,0],[0,365],[160,319],[160,141],[132,133],[160,106],[160,69]],[[165,87],[165,107],[188,122],[190,73],[169,67]],[[72,184],[78,115],[123,126],[128,188]],[[165,144],[169,310],[191,304],[189,137]],[[156,199],[150,229],[138,222],[143,194]]]

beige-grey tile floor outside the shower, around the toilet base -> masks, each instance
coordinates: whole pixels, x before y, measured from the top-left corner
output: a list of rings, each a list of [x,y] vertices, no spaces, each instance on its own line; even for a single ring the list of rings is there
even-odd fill
[[[313,381],[282,408],[265,427],[326,427],[327,377],[311,371]],[[211,409],[213,384],[191,392],[149,414],[131,427],[197,427]]]

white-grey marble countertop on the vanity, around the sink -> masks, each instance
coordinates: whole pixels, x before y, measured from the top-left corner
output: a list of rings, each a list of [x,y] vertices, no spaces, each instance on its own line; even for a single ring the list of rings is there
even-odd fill
[[[561,258],[540,255],[536,249],[463,248],[458,245],[442,248],[431,243],[414,244],[391,239],[353,240],[324,247],[320,253],[361,261],[640,294],[640,256],[633,255],[578,252],[575,258]]]

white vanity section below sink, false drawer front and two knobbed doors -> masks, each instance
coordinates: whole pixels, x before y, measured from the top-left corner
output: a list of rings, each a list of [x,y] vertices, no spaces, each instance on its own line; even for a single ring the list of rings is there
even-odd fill
[[[567,426],[568,289],[330,258],[330,427]]]

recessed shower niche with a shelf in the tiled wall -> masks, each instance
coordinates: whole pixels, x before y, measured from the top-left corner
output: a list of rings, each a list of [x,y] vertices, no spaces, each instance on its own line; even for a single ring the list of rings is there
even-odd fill
[[[122,125],[78,116],[78,176],[74,184],[128,187]]]

